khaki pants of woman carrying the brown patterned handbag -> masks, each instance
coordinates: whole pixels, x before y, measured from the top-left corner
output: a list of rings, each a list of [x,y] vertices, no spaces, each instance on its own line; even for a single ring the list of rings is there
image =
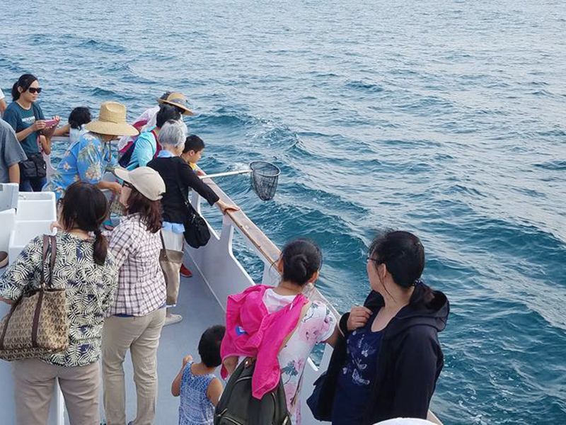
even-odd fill
[[[63,392],[71,425],[100,424],[100,365],[66,368],[36,358],[13,362],[18,425],[45,425],[55,379]]]

